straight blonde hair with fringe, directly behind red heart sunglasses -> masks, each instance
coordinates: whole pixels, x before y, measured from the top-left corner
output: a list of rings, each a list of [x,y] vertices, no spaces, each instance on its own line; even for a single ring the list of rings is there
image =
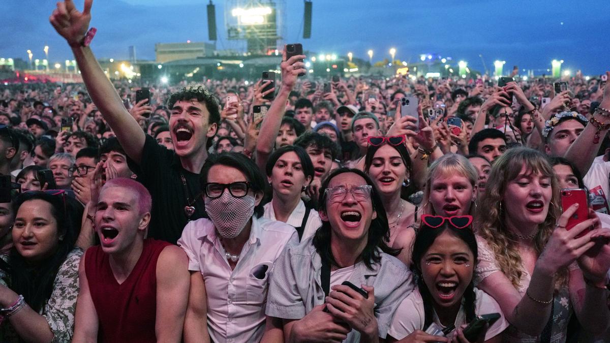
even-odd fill
[[[475,166],[468,161],[468,159],[459,154],[447,154],[443,155],[436,161],[432,162],[428,168],[428,175],[426,176],[426,183],[423,190],[422,203],[424,204],[420,214],[432,214],[436,215],[434,208],[429,204],[430,202],[430,187],[432,187],[432,180],[441,175],[461,175],[470,181],[473,192],[475,189],[476,181],[479,178],[479,173],[476,171]],[[475,206],[470,206],[469,214],[473,214]],[[421,215],[420,215],[421,217]]]

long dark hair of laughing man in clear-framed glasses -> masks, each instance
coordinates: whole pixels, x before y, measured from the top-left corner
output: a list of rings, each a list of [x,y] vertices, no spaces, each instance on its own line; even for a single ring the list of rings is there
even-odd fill
[[[375,182],[371,180],[362,170],[350,169],[350,168],[339,168],[332,171],[330,175],[324,180],[320,188],[320,208],[319,211],[326,212],[326,192],[329,182],[337,175],[343,173],[354,173],[358,176],[362,176],[364,181],[373,187],[371,190],[371,203],[373,204],[373,211],[377,212],[377,217],[371,220],[371,225],[368,228],[368,242],[362,250],[360,258],[364,261],[364,264],[368,269],[373,269],[373,263],[381,261],[378,248],[384,253],[392,256],[397,256],[400,253],[400,249],[390,248],[387,244],[390,241],[390,228],[387,223],[386,210],[383,208],[383,203],[379,197],[379,193],[375,187]],[[331,223],[322,221],[322,225],[315,231],[313,244],[315,249],[323,261],[328,262],[329,265],[337,265],[337,262],[332,256],[331,251]]]

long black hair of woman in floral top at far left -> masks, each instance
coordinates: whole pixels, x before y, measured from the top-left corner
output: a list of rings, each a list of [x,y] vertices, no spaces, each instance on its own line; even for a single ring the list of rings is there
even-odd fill
[[[30,264],[19,255],[15,247],[10,250],[9,259],[0,259],[0,269],[10,275],[9,288],[21,294],[27,305],[39,312],[51,297],[53,283],[59,267],[66,260],[76,240],[73,221],[68,216],[64,195],[51,195],[45,192],[26,192],[15,200],[15,213],[23,203],[30,200],[43,200],[51,204],[51,215],[57,222],[59,240],[57,251],[48,259],[37,264]]]

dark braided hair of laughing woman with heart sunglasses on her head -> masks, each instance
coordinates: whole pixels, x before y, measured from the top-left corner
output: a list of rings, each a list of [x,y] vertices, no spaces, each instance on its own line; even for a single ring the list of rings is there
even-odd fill
[[[411,258],[411,270],[415,275],[415,279],[417,280],[417,287],[419,288],[420,294],[423,299],[423,308],[424,308],[424,328],[427,328],[428,325],[432,323],[432,317],[434,314],[434,308],[432,307],[434,304],[434,299],[430,294],[428,286],[423,281],[422,276],[422,258],[426,254],[426,251],[434,244],[434,241],[437,237],[440,236],[443,232],[450,230],[454,236],[463,240],[470,251],[472,251],[472,255],[474,256],[473,264],[476,264],[478,258],[478,248],[476,245],[475,234],[472,232],[472,226],[469,226],[464,229],[456,229],[451,226],[446,220],[443,225],[439,226],[439,228],[431,228],[426,225],[422,221],[422,226],[418,229],[417,236],[415,236],[415,240],[413,242],[413,254]],[[474,266],[473,266],[474,267]],[[473,280],[470,280],[470,283],[466,287],[464,291],[464,313],[466,315],[466,322],[470,322],[475,319],[475,303],[476,303],[476,295],[475,295],[475,286]]]

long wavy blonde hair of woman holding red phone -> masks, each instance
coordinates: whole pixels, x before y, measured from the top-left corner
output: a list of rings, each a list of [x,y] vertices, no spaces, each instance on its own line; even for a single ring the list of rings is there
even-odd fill
[[[520,175],[522,168],[526,173],[542,173],[551,178],[553,195],[548,208],[547,218],[538,225],[534,237],[534,250],[539,256],[553,233],[558,218],[559,208],[559,182],[553,172],[553,167],[547,156],[530,148],[512,148],[493,163],[491,173],[487,179],[485,193],[481,198],[479,215],[475,218],[475,228],[492,249],[498,267],[511,280],[515,287],[519,287],[523,278],[523,261],[519,252],[519,241],[515,239],[506,226],[506,213],[501,203],[508,183]],[[567,268],[559,270],[556,286],[567,283]]]

